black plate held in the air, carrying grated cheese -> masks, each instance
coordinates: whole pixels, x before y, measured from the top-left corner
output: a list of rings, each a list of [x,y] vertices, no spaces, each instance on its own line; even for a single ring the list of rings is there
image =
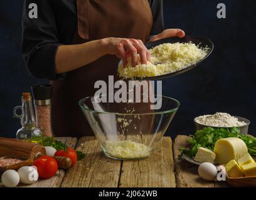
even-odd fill
[[[190,42],[190,41],[196,45],[199,45],[200,47],[207,46],[209,48],[209,51],[208,51],[207,55],[205,56],[205,58],[201,59],[196,64],[189,66],[188,68],[184,68],[179,71],[175,71],[174,73],[169,73],[169,74],[165,74],[162,76],[146,77],[146,78],[142,78],[142,79],[144,79],[144,80],[159,80],[159,79],[170,78],[170,77],[176,76],[178,74],[186,73],[187,71],[189,71],[189,70],[195,68],[196,66],[198,66],[199,64],[201,64],[206,58],[208,58],[208,56],[210,56],[210,54],[212,53],[213,47],[214,47],[213,42],[210,41],[210,39],[206,39],[205,37],[199,37],[199,36],[185,36],[182,39],[178,38],[178,37],[169,37],[166,39],[161,39],[158,41],[147,43],[146,44],[147,49],[152,49],[153,47],[156,47],[159,44],[175,43],[175,42]],[[141,78],[137,78],[137,79],[139,80]]]

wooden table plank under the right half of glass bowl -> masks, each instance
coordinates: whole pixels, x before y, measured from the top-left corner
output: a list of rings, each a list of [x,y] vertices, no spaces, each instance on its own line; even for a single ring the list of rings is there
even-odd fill
[[[119,187],[175,187],[172,141],[164,137],[151,158],[123,161]]]

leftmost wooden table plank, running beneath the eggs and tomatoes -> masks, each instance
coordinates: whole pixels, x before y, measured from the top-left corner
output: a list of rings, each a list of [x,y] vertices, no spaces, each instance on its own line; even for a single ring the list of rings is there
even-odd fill
[[[62,143],[66,143],[70,148],[75,148],[77,144],[77,138],[56,138]],[[50,179],[40,179],[34,184],[24,185],[20,184],[19,187],[60,187],[63,178],[65,176],[65,171],[63,169],[59,169],[57,174]]]

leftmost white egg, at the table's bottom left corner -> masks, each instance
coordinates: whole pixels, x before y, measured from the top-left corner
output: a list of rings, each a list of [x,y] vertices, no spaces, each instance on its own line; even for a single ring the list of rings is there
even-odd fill
[[[2,174],[1,181],[6,187],[16,187],[19,184],[19,174],[13,170],[7,170]]]

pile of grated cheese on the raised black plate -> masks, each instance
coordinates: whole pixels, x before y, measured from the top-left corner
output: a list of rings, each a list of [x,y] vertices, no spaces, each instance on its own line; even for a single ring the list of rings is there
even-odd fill
[[[160,44],[149,50],[151,62],[147,64],[137,64],[135,68],[131,66],[131,60],[126,68],[122,64],[118,68],[121,78],[145,78],[161,76],[173,73],[196,64],[205,58],[208,47],[200,48],[193,42],[187,43],[166,43]]]

